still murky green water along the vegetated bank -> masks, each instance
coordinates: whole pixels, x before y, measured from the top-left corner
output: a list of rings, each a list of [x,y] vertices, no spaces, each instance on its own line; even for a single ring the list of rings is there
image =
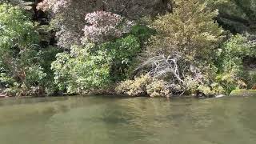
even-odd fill
[[[255,144],[256,97],[0,100],[0,144]]]

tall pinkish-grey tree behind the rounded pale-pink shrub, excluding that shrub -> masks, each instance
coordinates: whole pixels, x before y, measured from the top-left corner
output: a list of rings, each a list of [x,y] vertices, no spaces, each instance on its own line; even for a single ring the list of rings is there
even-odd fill
[[[106,11],[136,19],[150,14],[166,11],[167,2],[162,0],[44,0],[38,9],[52,14],[52,24],[57,27],[58,46],[70,49],[81,45],[86,25],[85,16],[94,11]]]

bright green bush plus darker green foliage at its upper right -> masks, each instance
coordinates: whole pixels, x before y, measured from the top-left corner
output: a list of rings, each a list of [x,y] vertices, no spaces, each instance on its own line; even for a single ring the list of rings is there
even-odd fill
[[[57,54],[52,63],[55,83],[74,94],[105,88],[126,78],[126,70],[138,52],[140,43],[132,35],[114,42],[72,46],[70,54]]]

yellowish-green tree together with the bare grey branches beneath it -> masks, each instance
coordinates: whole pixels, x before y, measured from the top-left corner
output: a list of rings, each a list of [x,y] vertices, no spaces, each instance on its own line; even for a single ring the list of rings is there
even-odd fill
[[[212,94],[212,60],[223,32],[214,21],[218,11],[200,0],[176,0],[174,4],[172,13],[153,22],[157,34],[150,38],[140,69],[169,82],[170,91],[180,87],[180,92]]]

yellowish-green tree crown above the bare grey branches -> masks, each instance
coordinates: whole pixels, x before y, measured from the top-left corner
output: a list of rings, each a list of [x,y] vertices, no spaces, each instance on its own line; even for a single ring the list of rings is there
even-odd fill
[[[209,56],[222,38],[222,29],[214,22],[218,11],[205,2],[176,0],[173,13],[159,16],[152,24],[158,34],[151,38],[150,54],[181,54],[192,62]]]

